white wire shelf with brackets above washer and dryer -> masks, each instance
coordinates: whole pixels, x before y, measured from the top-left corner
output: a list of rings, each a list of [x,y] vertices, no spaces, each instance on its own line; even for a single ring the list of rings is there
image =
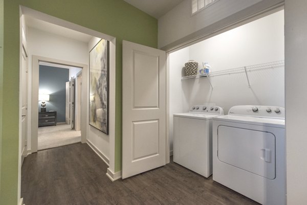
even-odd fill
[[[284,60],[268,62],[268,63],[261,63],[261,64],[256,64],[256,65],[249,65],[249,66],[244,66],[244,67],[237,67],[235,69],[227,69],[227,70],[223,70],[223,71],[214,71],[214,72],[211,72],[209,74],[184,76],[184,77],[181,77],[181,80],[190,79],[190,78],[208,77],[209,83],[210,83],[210,85],[213,89],[213,86],[212,86],[211,81],[210,81],[210,77],[237,74],[237,73],[245,73],[246,78],[247,78],[247,82],[248,82],[248,86],[250,87],[251,85],[250,85],[250,82],[249,82],[249,77],[248,77],[247,72],[264,70],[264,69],[275,69],[275,68],[280,68],[280,67],[284,67]]]

